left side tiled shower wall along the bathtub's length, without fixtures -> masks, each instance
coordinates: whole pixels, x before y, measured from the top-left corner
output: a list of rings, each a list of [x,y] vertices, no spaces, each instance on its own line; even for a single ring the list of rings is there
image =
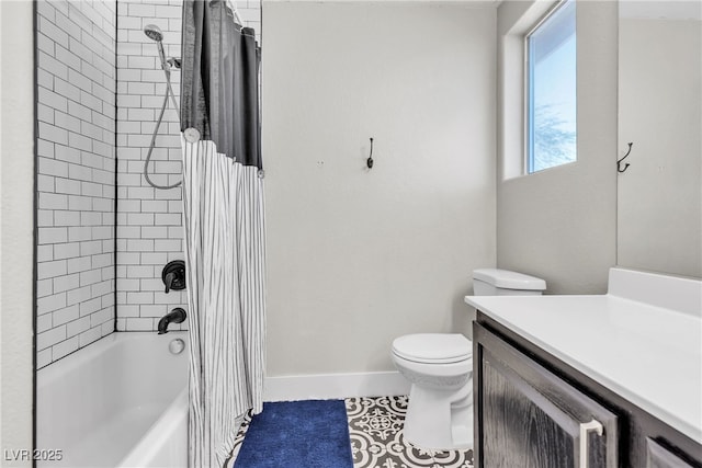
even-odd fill
[[[114,1],[38,1],[37,368],[114,330]]]

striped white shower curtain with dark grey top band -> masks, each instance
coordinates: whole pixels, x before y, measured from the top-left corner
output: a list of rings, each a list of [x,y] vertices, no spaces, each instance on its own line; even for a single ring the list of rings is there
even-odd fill
[[[222,467],[242,415],[263,407],[259,48],[220,0],[183,2],[182,41],[189,466]]]

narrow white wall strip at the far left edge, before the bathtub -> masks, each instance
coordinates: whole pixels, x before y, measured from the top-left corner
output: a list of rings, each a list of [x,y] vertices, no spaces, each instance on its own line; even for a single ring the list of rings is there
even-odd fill
[[[34,32],[31,2],[0,2],[0,450],[32,449]],[[4,456],[3,456],[4,458]],[[32,463],[2,460],[3,467]]]

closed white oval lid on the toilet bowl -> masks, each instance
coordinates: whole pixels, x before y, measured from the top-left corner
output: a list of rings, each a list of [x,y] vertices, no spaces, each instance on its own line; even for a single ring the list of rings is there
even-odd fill
[[[461,333],[417,333],[395,339],[393,353],[418,363],[450,364],[469,358],[473,351]]]

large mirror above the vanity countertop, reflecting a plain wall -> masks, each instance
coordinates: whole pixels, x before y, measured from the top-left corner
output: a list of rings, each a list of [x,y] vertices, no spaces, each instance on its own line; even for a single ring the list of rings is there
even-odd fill
[[[621,266],[702,277],[701,25],[700,2],[620,2]]]

